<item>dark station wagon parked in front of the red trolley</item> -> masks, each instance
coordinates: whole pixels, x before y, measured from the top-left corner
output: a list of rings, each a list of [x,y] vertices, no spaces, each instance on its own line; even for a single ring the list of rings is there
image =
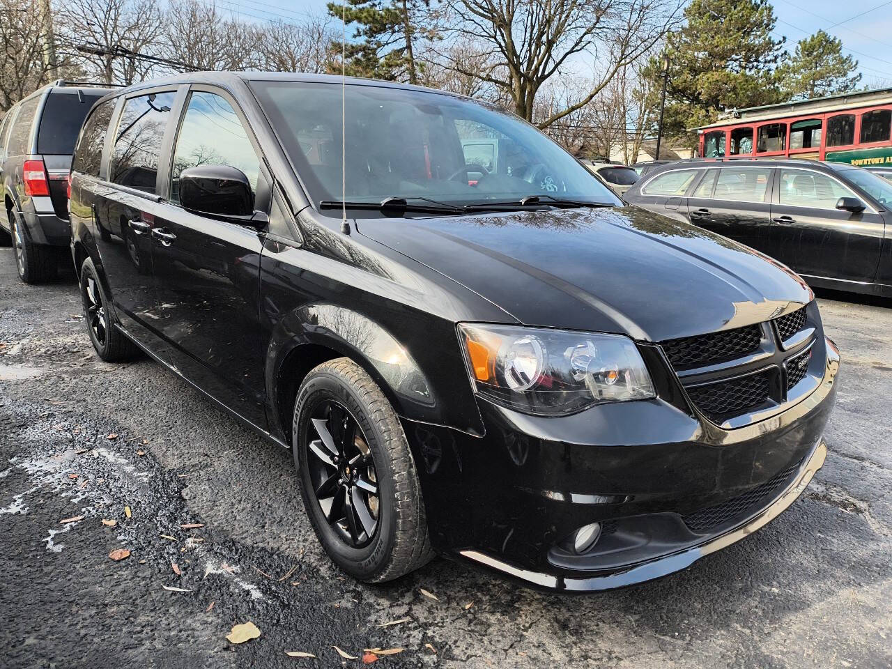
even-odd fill
[[[626,202],[764,252],[810,285],[892,296],[892,184],[839,162],[693,160]]]

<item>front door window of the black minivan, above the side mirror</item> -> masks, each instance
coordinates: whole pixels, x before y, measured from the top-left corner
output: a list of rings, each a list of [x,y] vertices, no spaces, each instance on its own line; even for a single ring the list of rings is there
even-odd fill
[[[213,93],[189,96],[171,169],[170,202],[179,202],[179,175],[199,165],[227,165],[241,169],[257,192],[260,159],[242,121],[226,99]]]

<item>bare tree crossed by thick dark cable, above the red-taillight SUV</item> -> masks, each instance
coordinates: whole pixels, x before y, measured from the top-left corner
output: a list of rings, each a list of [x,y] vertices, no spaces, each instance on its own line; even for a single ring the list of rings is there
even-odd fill
[[[125,86],[160,70],[132,54],[159,54],[163,25],[156,0],[67,0],[65,11],[56,15],[66,53],[77,56],[92,77]]]

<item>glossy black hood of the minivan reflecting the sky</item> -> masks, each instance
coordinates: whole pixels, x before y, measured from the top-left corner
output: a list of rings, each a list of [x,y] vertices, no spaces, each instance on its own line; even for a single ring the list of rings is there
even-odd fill
[[[775,260],[633,208],[360,219],[357,227],[527,325],[662,341],[773,318],[812,297]]]

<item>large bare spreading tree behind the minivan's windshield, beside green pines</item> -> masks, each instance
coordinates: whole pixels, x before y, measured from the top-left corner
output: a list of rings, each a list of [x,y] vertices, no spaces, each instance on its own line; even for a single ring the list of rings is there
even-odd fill
[[[586,95],[535,120],[547,128],[599,94],[616,72],[647,53],[670,29],[681,0],[447,0],[453,32],[484,45],[499,67],[475,72],[464,62],[450,67],[500,87],[517,115],[533,121],[535,98],[555,75],[566,74],[578,54],[598,70]],[[483,55],[480,54],[480,55]]]

